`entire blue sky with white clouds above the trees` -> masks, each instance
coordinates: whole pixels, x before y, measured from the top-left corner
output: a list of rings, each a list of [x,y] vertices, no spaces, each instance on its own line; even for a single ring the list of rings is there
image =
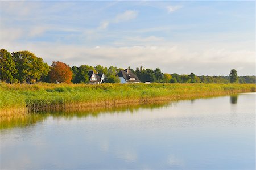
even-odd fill
[[[255,1],[0,1],[0,48],[48,65],[255,75]]]

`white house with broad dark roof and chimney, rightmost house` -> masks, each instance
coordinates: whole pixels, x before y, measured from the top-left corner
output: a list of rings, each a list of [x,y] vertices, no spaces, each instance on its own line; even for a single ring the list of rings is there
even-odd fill
[[[120,79],[120,83],[139,83],[141,82],[137,75],[129,71],[129,69],[120,70],[117,75]]]

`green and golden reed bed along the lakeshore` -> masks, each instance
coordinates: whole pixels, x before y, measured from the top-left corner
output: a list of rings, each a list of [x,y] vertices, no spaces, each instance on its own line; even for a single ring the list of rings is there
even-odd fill
[[[0,83],[0,116],[82,107],[192,99],[255,92],[255,84],[7,84]]]

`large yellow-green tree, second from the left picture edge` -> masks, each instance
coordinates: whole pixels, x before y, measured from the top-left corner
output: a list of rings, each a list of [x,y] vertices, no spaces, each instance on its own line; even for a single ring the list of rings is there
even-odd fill
[[[37,81],[41,76],[46,76],[49,72],[49,66],[43,62],[43,59],[36,57],[34,53],[20,51],[13,53],[13,59],[18,72],[15,78],[20,83]]]

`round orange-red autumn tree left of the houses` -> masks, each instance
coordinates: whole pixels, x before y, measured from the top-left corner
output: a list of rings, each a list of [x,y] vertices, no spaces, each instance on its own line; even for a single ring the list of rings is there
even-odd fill
[[[49,71],[49,81],[55,83],[71,83],[72,80],[71,67],[63,62],[53,61],[51,65],[51,71]]]

